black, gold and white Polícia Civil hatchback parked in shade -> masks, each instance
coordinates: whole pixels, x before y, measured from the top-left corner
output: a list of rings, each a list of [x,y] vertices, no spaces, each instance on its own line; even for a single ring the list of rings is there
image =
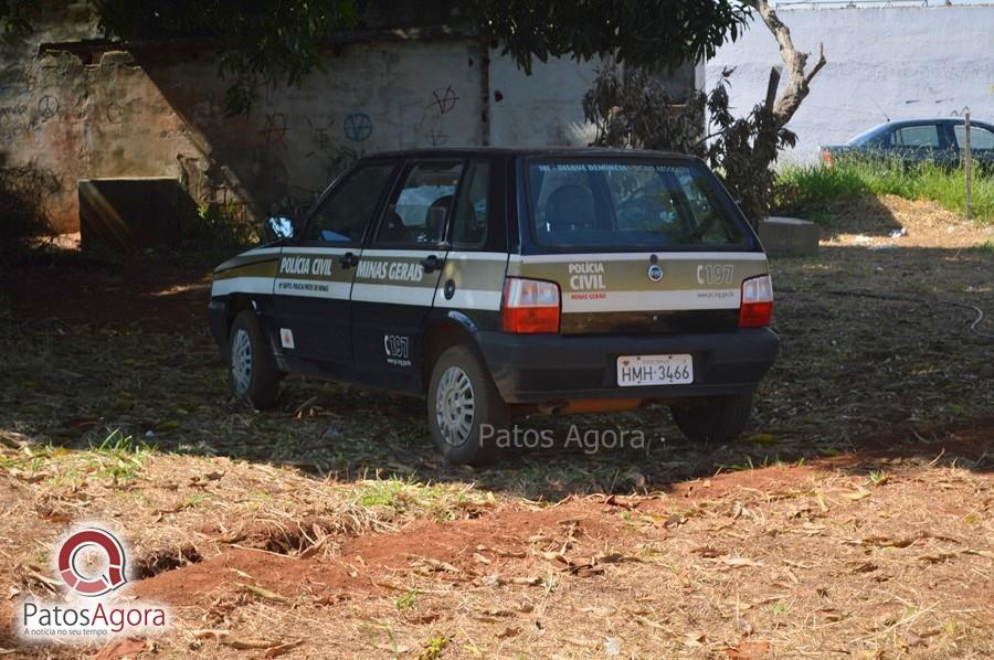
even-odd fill
[[[457,464],[535,412],[664,403],[729,440],[778,351],[759,238],[686,156],[380,153],[268,227],[214,274],[232,393],[264,408],[302,373],[420,395]]]

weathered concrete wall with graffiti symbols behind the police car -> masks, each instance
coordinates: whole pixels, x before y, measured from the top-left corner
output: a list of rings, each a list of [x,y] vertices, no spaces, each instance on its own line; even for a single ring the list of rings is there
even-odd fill
[[[39,52],[98,36],[86,7],[0,46],[0,153],[57,180],[49,212],[60,231],[78,228],[81,179],[175,177],[198,203],[258,215],[309,202],[363,153],[592,138],[580,104],[593,64],[537,63],[529,78],[470,39],[349,45],[329,53],[329,73],[265,89],[250,116],[229,118],[210,50]],[[676,72],[675,93],[699,77]]]

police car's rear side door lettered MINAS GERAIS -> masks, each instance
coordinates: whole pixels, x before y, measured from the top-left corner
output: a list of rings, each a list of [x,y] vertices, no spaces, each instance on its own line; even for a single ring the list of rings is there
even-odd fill
[[[352,347],[356,366],[374,383],[420,384],[421,330],[445,264],[442,238],[464,169],[459,159],[408,162],[359,257]]]

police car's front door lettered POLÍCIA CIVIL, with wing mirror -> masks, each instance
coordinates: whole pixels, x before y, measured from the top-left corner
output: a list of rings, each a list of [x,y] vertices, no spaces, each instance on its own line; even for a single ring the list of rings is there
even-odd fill
[[[361,164],[337,182],[279,255],[274,289],[277,337],[288,358],[326,366],[352,361],[349,297],[362,239],[396,162]]]

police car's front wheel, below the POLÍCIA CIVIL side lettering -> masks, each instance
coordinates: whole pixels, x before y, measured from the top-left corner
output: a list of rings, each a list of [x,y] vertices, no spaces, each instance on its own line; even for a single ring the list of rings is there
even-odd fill
[[[228,383],[236,398],[256,409],[273,407],[283,374],[252,311],[235,317],[228,336]]]

